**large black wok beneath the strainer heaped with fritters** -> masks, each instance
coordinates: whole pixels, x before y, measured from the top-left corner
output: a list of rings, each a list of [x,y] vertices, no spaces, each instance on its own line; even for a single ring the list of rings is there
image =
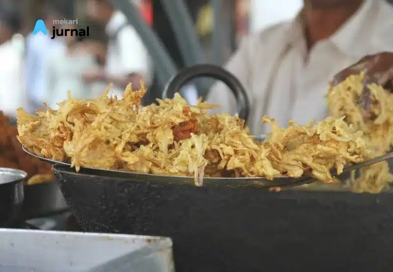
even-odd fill
[[[211,76],[205,68],[198,73]],[[168,89],[178,90],[192,72],[173,78]],[[245,94],[238,81],[228,82]],[[85,231],[171,237],[177,272],[369,272],[391,271],[393,264],[389,193],[269,193],[75,173],[61,164],[53,171]]]

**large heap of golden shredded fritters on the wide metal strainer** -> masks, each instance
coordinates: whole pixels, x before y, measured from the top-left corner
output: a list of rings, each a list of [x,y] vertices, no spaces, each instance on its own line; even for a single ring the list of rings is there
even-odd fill
[[[363,132],[329,117],[314,125],[272,125],[264,143],[250,135],[244,121],[225,114],[210,115],[214,107],[201,99],[189,105],[174,99],[141,107],[146,89],[123,99],[68,99],[58,109],[31,115],[18,109],[18,140],[37,155],[80,167],[139,173],[203,177],[300,177],[310,174],[332,182],[330,170],[369,157]]]

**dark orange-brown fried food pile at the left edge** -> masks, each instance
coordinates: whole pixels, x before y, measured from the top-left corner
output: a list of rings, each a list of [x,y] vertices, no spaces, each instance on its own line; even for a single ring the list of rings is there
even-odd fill
[[[25,153],[17,135],[16,126],[10,125],[8,117],[0,111],[0,167],[25,171],[29,185],[54,180],[51,165]]]

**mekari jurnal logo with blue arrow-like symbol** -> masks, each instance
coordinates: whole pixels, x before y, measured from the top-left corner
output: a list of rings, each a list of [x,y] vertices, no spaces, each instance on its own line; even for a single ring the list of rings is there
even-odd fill
[[[60,25],[60,27],[57,27]],[[78,19],[74,20],[54,20],[53,21],[53,27],[52,27],[52,35],[51,39],[55,39],[56,37],[64,37],[64,36],[77,36],[80,38],[87,37],[89,35],[89,27],[86,26],[86,28],[66,28],[65,26],[67,25],[78,25]],[[35,22],[35,26],[33,29],[33,35],[36,35],[38,33],[42,33],[44,35],[48,35],[48,29],[46,28],[45,22],[43,20],[37,20]]]

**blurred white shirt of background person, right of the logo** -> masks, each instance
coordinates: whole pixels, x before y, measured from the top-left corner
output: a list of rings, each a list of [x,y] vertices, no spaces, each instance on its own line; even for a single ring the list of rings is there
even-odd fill
[[[112,36],[126,22],[127,18],[125,15],[120,11],[115,11],[105,30],[109,36]],[[140,36],[131,25],[123,27],[117,33],[116,40],[109,42],[105,70],[107,74],[116,76],[133,73],[140,74],[146,87],[151,85],[153,81],[153,64]],[[122,89],[114,88],[113,95],[121,97],[123,91]]]

